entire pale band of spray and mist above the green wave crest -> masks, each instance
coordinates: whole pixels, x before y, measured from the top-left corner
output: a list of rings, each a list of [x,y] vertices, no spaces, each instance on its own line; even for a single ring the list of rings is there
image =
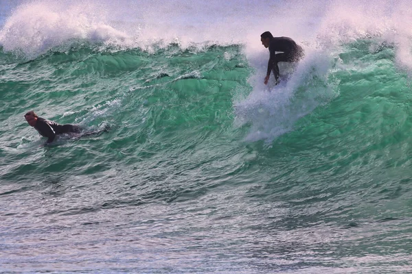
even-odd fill
[[[260,34],[289,36],[309,47],[331,46],[365,35],[396,42],[402,60],[410,46],[410,1],[21,1],[0,30],[3,51],[38,55],[73,40],[148,48],[214,41],[262,53]],[[410,54],[409,54],[410,55]],[[409,58],[411,58],[409,56]],[[412,59],[412,58],[411,58]]]

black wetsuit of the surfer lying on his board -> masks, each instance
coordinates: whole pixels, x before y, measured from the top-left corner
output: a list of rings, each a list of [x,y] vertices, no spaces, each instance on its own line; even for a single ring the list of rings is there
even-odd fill
[[[43,119],[41,117],[37,118],[36,125],[34,128],[38,131],[38,133],[43,136],[47,137],[47,143],[53,142],[54,138],[58,134],[65,134],[70,132],[80,132],[80,127],[78,125],[59,125],[53,121],[49,121],[47,119]]]

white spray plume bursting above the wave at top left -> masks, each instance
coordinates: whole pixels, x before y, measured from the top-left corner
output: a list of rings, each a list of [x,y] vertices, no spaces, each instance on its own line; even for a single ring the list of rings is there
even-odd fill
[[[23,53],[30,58],[81,40],[119,43],[127,38],[127,34],[106,23],[105,9],[92,3],[25,3],[12,12],[0,31],[3,51]]]

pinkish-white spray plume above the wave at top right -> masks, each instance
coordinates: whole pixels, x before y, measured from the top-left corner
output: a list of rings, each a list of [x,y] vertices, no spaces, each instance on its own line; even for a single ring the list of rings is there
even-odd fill
[[[374,40],[371,52],[391,45],[396,49],[398,66],[411,75],[411,17],[411,1],[333,1],[319,24],[316,42],[329,51],[341,51],[342,45],[359,39]]]

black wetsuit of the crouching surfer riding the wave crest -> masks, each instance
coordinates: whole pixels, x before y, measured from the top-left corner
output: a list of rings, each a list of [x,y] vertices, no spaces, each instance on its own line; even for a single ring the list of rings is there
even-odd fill
[[[276,51],[282,51],[282,53],[276,53]],[[269,44],[269,52],[271,57],[269,58],[266,75],[270,75],[273,71],[276,82],[279,79],[278,62],[297,62],[304,56],[304,49],[288,37],[273,37]]]

